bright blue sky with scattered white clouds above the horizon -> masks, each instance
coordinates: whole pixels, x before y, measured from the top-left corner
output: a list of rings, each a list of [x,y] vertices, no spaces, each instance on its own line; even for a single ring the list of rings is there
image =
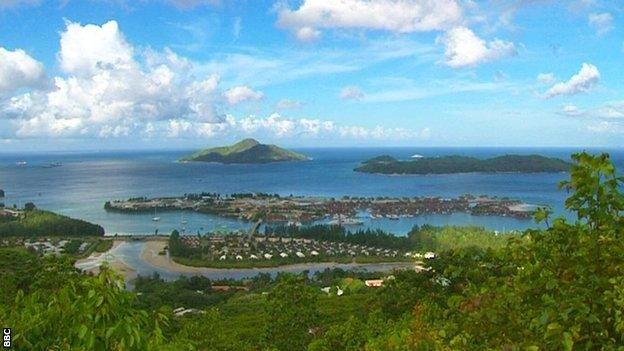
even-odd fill
[[[623,19],[607,0],[0,0],[0,149],[621,147]]]

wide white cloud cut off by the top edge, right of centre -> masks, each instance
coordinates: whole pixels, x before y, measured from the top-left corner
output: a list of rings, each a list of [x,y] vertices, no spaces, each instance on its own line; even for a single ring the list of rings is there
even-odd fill
[[[461,19],[456,0],[305,0],[297,9],[282,7],[278,25],[309,40],[324,28],[427,32],[444,30]]]

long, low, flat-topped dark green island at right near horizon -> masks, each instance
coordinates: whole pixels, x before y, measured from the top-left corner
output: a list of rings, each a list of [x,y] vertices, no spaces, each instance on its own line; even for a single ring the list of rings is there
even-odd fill
[[[488,159],[467,156],[421,157],[403,161],[388,155],[362,162],[356,172],[381,174],[449,174],[496,172],[564,172],[570,163],[540,155],[504,155]]]

